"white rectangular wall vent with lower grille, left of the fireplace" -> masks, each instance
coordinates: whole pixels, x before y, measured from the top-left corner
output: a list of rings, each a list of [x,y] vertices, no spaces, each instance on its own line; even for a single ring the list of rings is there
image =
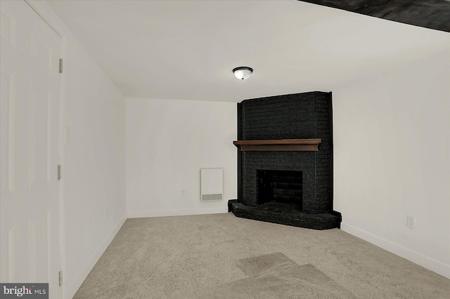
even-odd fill
[[[224,198],[224,169],[200,169],[200,200],[216,201]]]

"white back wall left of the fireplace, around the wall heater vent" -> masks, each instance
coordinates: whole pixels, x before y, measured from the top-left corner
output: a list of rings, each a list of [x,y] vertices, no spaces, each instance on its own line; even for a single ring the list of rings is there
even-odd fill
[[[237,198],[236,110],[231,102],[127,99],[129,218],[228,211]],[[224,200],[200,201],[200,168],[224,168]]]

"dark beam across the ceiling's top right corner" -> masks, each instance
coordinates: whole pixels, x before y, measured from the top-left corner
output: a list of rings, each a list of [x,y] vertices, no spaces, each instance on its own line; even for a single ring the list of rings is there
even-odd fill
[[[450,32],[450,0],[302,0],[344,11]]]

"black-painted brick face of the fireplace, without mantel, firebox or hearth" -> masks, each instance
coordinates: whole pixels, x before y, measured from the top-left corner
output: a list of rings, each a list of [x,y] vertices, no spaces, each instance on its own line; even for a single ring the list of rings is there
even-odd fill
[[[330,93],[243,100],[243,140],[321,138],[319,152],[243,152],[242,203],[257,206],[257,169],[303,172],[303,213],[330,209]]]

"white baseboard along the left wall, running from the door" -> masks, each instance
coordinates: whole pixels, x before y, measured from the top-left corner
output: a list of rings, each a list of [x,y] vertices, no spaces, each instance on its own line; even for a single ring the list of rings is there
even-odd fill
[[[123,215],[122,218],[117,222],[117,225],[113,228],[113,230],[108,234],[108,236],[103,240],[103,242],[100,244],[100,246],[97,248],[97,250],[94,252],[94,254],[89,258],[89,261],[84,266],[82,272],[80,272],[77,277],[72,281],[72,284],[68,286],[65,290],[65,295],[63,295],[63,298],[72,298],[75,293],[77,293],[78,288],[82,285],[84,279],[86,279],[89,272],[91,272],[92,268],[96,265],[98,262],[98,259],[101,257],[101,255],[105,252],[106,248],[108,248],[111,241],[113,241],[115,235],[117,232],[119,232],[120,227],[124,224],[125,220],[127,220],[127,216]]]

